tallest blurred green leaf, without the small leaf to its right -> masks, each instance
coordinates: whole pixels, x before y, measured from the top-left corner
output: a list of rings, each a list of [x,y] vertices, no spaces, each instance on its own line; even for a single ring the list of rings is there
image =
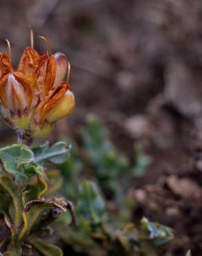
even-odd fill
[[[84,149],[93,174],[98,179],[102,191],[110,195],[118,194],[117,179],[129,168],[129,159],[120,154],[111,143],[101,122],[95,116],[89,116],[87,126],[80,130],[84,140]]]

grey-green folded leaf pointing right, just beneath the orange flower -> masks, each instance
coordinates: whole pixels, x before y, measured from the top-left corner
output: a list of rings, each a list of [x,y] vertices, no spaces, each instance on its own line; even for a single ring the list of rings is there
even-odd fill
[[[33,148],[35,154],[34,162],[43,164],[45,160],[48,160],[56,164],[64,163],[70,148],[70,146],[62,141],[53,144],[51,147],[48,147],[48,143],[44,143],[44,145]]]

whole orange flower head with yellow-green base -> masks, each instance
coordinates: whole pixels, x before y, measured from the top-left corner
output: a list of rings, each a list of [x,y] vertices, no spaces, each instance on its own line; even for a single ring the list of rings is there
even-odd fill
[[[17,71],[10,56],[0,53],[1,116],[21,133],[46,136],[53,124],[75,108],[71,86],[64,82],[69,64],[63,53],[39,55],[27,47]]]

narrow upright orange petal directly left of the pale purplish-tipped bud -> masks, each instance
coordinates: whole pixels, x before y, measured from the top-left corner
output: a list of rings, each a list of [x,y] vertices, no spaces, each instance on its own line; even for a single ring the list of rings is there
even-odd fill
[[[53,55],[48,57],[44,54],[40,57],[39,67],[37,68],[37,86],[41,93],[42,99],[48,95],[50,89],[53,88],[56,74],[56,60]]]

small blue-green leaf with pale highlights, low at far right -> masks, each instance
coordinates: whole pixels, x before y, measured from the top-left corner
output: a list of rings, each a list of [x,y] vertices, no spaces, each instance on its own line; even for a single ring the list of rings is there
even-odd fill
[[[167,243],[174,237],[171,228],[148,221],[145,217],[141,220],[141,227],[145,238],[153,240],[157,246]]]

